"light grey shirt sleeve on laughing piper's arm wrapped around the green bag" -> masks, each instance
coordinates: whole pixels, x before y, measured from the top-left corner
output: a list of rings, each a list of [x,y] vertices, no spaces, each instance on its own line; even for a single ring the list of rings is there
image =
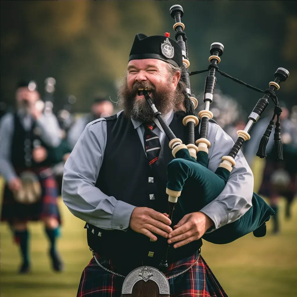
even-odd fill
[[[208,139],[212,147],[209,150],[208,169],[215,172],[219,163],[222,162],[222,157],[229,154],[234,142],[221,127],[211,122]],[[214,228],[208,232],[236,221],[252,206],[254,187],[252,170],[241,151],[238,152],[235,161],[236,165],[221,194],[201,209],[201,212],[214,222]]]

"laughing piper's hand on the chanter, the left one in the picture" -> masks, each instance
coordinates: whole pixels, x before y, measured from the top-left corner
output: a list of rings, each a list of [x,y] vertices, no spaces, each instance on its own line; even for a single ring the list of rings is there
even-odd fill
[[[132,230],[142,233],[154,241],[157,240],[157,237],[153,233],[168,238],[168,233],[172,232],[169,225],[171,225],[171,221],[167,214],[161,214],[147,207],[134,208],[129,223]]]

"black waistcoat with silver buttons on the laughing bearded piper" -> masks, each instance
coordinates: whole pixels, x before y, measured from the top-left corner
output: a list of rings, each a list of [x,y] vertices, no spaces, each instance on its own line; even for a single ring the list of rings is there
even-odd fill
[[[185,113],[175,113],[169,127],[177,138],[187,143],[188,130],[182,124],[184,116]],[[131,205],[168,213],[168,195],[165,192],[166,170],[167,164],[173,159],[168,138],[165,137],[159,158],[150,168],[138,132],[131,119],[127,119],[121,113],[118,118],[114,115],[106,118],[106,121],[107,143],[95,186],[106,195],[114,196]],[[198,126],[195,134],[195,138],[198,139]],[[149,177],[154,178],[153,183],[149,182]],[[152,194],[154,194],[154,199],[150,199]],[[176,225],[184,215],[185,213],[177,204],[173,212],[172,226]],[[114,261],[129,259],[128,262],[137,262],[136,265],[143,263],[143,265],[157,267],[164,254],[166,239],[159,235],[157,235],[157,241],[152,242],[150,238],[130,228],[127,231],[103,230],[89,223],[85,225],[85,228],[91,249]],[[201,245],[200,239],[178,249],[170,247],[168,263],[192,255]]]

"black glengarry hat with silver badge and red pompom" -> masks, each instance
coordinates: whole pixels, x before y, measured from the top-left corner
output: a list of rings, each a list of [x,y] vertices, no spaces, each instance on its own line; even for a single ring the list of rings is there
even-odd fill
[[[183,56],[178,43],[162,35],[136,34],[129,61],[138,59],[159,59],[175,67],[181,67],[183,64]]]

